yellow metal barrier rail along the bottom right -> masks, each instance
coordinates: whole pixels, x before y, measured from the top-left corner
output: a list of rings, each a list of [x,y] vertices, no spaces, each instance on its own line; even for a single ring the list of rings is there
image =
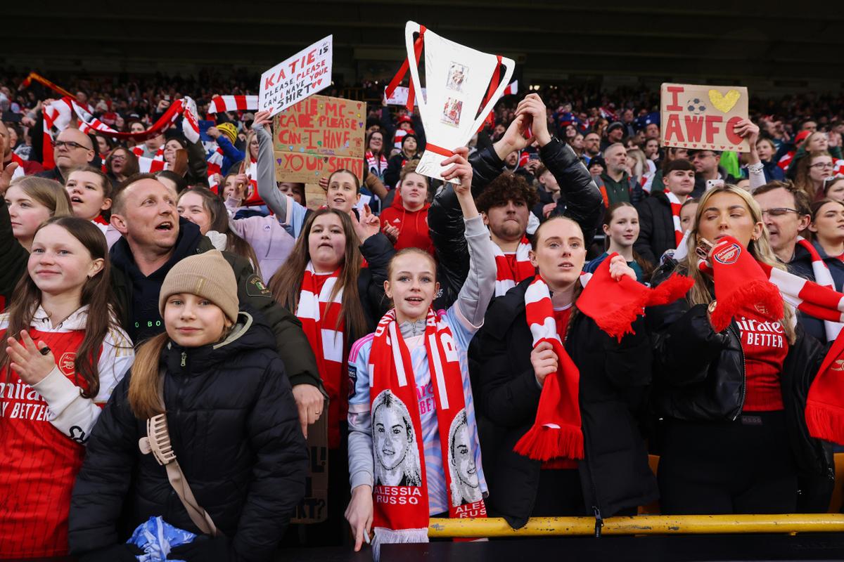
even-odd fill
[[[713,533],[841,533],[844,515],[645,515],[608,517],[603,535],[662,535]],[[431,538],[554,537],[594,535],[594,517],[532,517],[521,529],[513,529],[502,517],[487,519],[431,519]]]

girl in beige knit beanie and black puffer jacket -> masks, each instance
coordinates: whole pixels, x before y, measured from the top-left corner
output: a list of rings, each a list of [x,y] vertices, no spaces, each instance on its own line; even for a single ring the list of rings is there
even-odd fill
[[[204,526],[213,524],[213,536],[197,536],[170,555],[188,562],[271,559],[305,495],[307,469],[273,332],[238,310],[234,272],[216,250],[170,270],[159,308],[166,332],[140,346],[89,440],[73,490],[71,551],[83,560],[134,560],[123,541],[156,516],[201,535],[195,513],[168,481],[170,464],[138,446],[148,420],[165,415],[182,480],[206,512]],[[131,508],[120,528],[124,504]]]

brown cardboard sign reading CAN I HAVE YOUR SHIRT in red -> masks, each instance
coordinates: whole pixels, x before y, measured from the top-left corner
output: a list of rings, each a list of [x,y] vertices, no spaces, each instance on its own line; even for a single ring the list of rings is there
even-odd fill
[[[321,95],[276,115],[275,179],[318,184],[337,169],[363,179],[365,121],[365,102]]]

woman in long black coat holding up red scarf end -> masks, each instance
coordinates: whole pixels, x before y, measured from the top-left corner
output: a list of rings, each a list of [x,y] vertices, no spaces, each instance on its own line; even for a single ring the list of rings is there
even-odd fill
[[[625,257],[593,274],[581,227],[551,217],[533,235],[538,275],[495,299],[479,341],[482,448],[490,509],[514,528],[528,517],[635,515],[657,499],[638,428],[651,383],[642,307],[687,291],[652,291]]]

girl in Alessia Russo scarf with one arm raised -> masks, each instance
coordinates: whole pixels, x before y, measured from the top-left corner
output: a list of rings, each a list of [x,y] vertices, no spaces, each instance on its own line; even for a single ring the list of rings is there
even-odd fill
[[[375,528],[376,559],[381,544],[427,541],[430,516],[486,517],[466,353],[495,292],[495,260],[469,190],[468,148],[455,153],[443,178],[460,181],[455,191],[470,256],[457,302],[434,312],[436,262],[423,250],[403,249],[384,283],[395,308],[349,355],[346,518],[355,550]]]

